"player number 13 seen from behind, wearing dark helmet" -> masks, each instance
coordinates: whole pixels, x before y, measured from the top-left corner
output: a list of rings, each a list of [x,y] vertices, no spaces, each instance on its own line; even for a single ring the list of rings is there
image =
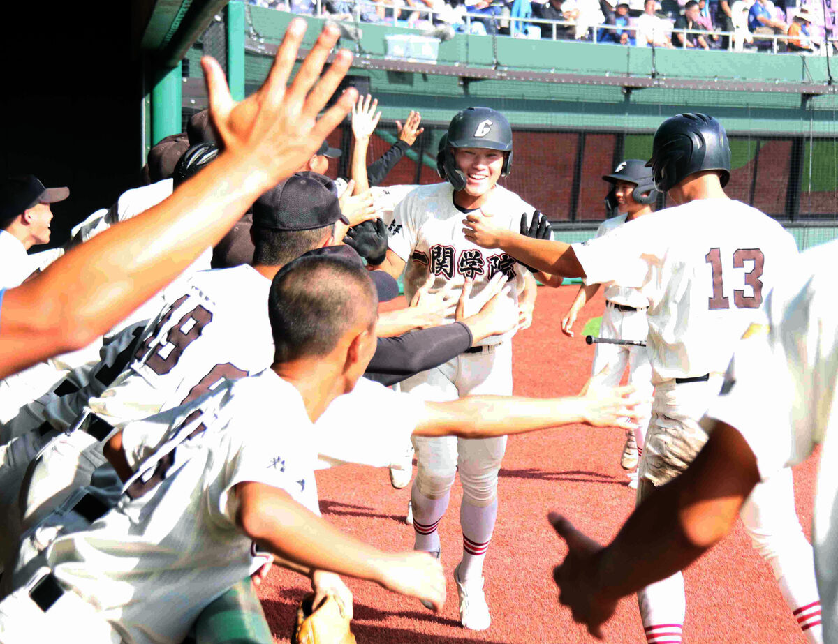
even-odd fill
[[[722,383],[742,332],[797,256],[792,236],[724,193],[730,147],[703,114],[674,116],[654,135],[655,188],[679,204],[587,244],[531,240],[469,214],[468,239],[499,247],[544,270],[588,282],[639,288],[649,301],[648,350],[654,402],[639,464],[638,499],[677,477],[706,441],[698,420]],[[742,508],[754,547],[773,569],[789,609],[818,602],[811,546],[796,517],[791,472],[760,484]],[[639,593],[647,641],[681,641],[684,580],[677,573]],[[819,634],[805,631],[813,641]]]

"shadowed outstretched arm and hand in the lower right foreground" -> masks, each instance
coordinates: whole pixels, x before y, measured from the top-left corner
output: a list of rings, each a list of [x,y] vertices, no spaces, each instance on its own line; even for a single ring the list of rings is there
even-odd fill
[[[720,541],[758,482],[747,442],[730,425],[716,423],[691,466],[655,489],[605,548],[551,514],[569,549],[553,573],[559,600],[575,621],[602,637],[621,597],[686,568]]]

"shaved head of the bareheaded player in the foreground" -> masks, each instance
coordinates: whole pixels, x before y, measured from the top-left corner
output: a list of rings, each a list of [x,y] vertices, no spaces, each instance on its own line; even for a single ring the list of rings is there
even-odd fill
[[[292,261],[268,296],[276,363],[331,353],[353,329],[372,329],[378,296],[361,265],[328,256]]]

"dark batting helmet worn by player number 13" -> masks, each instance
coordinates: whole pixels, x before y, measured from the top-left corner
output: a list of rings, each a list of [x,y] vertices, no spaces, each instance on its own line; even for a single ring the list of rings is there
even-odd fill
[[[667,190],[703,170],[721,172],[722,188],[731,176],[731,148],[719,121],[706,114],[679,114],[666,119],[654,133],[652,158],[654,187]]]

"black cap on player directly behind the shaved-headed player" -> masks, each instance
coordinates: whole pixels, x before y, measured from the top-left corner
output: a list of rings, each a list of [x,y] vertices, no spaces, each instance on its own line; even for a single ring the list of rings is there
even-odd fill
[[[338,188],[320,173],[294,173],[253,204],[253,224],[272,230],[311,230],[340,219]]]

